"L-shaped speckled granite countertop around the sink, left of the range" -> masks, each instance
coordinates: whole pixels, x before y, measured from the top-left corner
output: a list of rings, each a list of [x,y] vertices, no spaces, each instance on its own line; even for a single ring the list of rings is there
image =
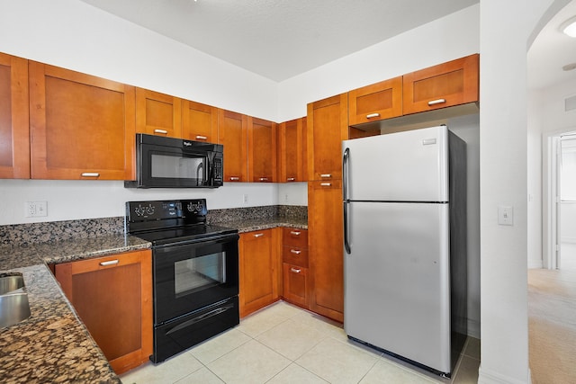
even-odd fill
[[[149,248],[138,237],[111,235],[30,246],[0,246],[0,271],[23,273],[31,317],[0,330],[0,381],[120,383],[47,263]]]

